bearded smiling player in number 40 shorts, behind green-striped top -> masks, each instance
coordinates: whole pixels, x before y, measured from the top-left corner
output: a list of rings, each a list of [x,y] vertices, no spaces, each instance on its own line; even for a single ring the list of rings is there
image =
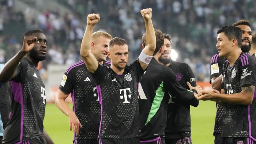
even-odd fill
[[[158,58],[160,64],[173,70],[177,82],[184,88],[189,89],[187,82],[196,87],[196,79],[188,64],[173,61],[171,58],[172,37],[164,34],[164,45],[161,56]],[[182,95],[170,95],[168,102],[167,123],[165,128],[165,142],[167,144],[192,144],[190,105],[197,107],[199,101],[194,97],[180,101]]]

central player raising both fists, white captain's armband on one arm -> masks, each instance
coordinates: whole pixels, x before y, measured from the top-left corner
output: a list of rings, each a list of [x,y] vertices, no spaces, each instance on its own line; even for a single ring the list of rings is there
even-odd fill
[[[109,68],[99,64],[90,53],[91,35],[99,22],[99,14],[87,16],[80,53],[93,75],[101,103],[99,144],[139,144],[138,84],[156,47],[151,11],[151,8],[141,10],[146,26],[146,47],[139,59],[127,65],[127,43],[122,38],[113,38],[107,53],[111,60]]]

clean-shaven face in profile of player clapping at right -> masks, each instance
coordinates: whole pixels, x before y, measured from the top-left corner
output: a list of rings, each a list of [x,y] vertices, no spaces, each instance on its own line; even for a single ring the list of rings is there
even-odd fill
[[[229,41],[229,38],[226,37],[224,33],[219,33],[217,36],[216,47],[219,52],[219,57],[227,57],[229,53],[232,52],[232,40]]]

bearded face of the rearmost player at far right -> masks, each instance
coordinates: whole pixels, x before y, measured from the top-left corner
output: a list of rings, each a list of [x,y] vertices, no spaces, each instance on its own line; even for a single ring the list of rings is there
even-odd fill
[[[240,27],[240,29],[243,31],[242,34],[242,46],[241,50],[242,52],[249,52],[252,45],[252,29],[251,27],[247,25],[238,25],[237,27]]]

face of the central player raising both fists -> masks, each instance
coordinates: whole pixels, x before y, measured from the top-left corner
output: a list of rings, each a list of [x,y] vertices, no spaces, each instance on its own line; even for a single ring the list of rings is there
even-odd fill
[[[111,64],[121,70],[127,65],[129,58],[128,45],[114,45],[108,52],[108,57],[111,59]]]

